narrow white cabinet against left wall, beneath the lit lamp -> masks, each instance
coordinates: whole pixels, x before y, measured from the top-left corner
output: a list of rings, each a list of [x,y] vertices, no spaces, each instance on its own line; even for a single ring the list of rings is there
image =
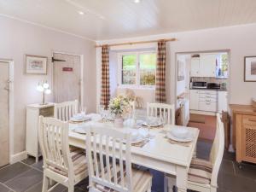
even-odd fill
[[[32,155],[38,162],[40,156],[38,143],[39,116],[51,117],[54,115],[54,103],[46,105],[32,104],[26,108],[26,155]]]

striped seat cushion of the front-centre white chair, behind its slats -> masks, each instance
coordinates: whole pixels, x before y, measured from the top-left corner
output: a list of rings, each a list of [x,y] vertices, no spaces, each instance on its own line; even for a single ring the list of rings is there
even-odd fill
[[[120,175],[119,167],[117,167],[118,170],[118,176]],[[113,171],[113,169],[112,169]],[[126,174],[125,174],[125,181],[126,181]],[[113,181],[113,176],[111,178]],[[148,183],[152,182],[152,175],[149,172],[132,169],[132,185],[133,185],[133,191],[136,192],[144,192],[144,189],[147,189]],[[118,183],[121,184],[121,178],[118,177]],[[96,189],[102,191],[102,192],[116,192],[114,189],[109,189],[108,187],[102,186],[100,184],[96,184]]]

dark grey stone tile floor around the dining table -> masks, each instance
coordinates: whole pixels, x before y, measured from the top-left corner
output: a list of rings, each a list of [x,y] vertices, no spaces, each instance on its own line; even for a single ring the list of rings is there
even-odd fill
[[[207,159],[211,150],[211,143],[199,141],[197,156]],[[41,192],[43,178],[43,161],[35,163],[33,158],[22,160],[13,165],[0,168],[0,192]],[[163,192],[164,175],[161,172],[150,170],[154,175],[154,192]],[[87,191],[88,179],[84,179],[75,187],[76,192]],[[235,154],[224,152],[224,160],[218,174],[218,192],[255,192],[256,166],[242,164],[239,169]],[[67,192],[67,188],[58,185],[53,192]]]

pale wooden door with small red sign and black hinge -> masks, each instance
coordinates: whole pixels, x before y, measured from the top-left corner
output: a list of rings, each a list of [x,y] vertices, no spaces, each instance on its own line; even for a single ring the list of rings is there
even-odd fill
[[[54,53],[54,101],[81,103],[81,63],[79,55]],[[62,60],[62,61],[60,61]]]

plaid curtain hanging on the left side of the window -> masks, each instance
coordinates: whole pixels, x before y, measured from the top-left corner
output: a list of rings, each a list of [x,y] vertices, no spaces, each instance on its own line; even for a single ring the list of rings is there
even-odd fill
[[[110,99],[110,91],[109,91],[109,53],[108,53],[108,45],[104,45],[104,46],[102,46],[101,105],[105,109],[108,108],[109,99]]]

